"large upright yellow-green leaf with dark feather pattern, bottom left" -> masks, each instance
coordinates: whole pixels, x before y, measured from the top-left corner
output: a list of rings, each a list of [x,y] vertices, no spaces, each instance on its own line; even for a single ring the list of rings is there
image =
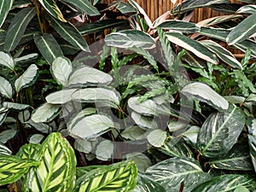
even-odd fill
[[[40,165],[26,175],[23,191],[73,191],[76,158],[67,139],[51,133],[42,144]]]

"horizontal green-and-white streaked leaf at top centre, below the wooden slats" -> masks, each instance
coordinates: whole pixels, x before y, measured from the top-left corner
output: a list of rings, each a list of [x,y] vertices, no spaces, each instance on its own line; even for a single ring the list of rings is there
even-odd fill
[[[123,30],[112,32],[105,38],[108,46],[118,48],[140,47],[143,49],[151,49],[154,47],[154,38],[151,38],[147,33],[136,30]]]

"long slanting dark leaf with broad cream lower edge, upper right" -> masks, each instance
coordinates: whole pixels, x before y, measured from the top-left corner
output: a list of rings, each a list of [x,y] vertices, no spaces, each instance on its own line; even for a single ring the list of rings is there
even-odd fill
[[[166,32],[166,37],[173,44],[177,44],[178,46],[183,47],[184,49],[188,49],[201,59],[212,62],[213,64],[218,64],[217,55],[213,54],[205,46],[198,43],[194,39],[191,39],[177,32]]]

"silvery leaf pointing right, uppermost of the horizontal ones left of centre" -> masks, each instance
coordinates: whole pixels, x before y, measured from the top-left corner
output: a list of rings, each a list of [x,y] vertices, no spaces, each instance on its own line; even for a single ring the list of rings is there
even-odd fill
[[[83,87],[88,84],[110,84],[113,78],[92,67],[80,67],[69,77],[68,86]]]

